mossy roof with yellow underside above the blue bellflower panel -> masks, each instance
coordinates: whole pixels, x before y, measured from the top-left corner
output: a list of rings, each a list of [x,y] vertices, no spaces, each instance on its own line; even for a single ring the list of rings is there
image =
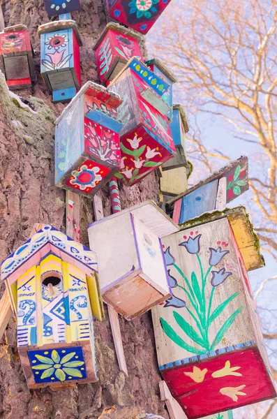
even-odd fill
[[[243,206],[227,208],[223,211],[211,211],[201,214],[179,225],[180,230],[197,227],[211,221],[227,218],[234,233],[234,238],[244,259],[246,270],[255,270],[264,266],[264,258],[260,252],[260,240],[253,230],[253,225]]]

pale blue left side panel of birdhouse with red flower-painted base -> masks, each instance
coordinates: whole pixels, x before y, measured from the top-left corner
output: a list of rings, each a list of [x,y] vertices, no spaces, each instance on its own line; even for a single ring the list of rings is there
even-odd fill
[[[77,99],[63,115],[55,129],[55,183],[63,185],[63,177],[73,170],[84,152],[84,101]]]

